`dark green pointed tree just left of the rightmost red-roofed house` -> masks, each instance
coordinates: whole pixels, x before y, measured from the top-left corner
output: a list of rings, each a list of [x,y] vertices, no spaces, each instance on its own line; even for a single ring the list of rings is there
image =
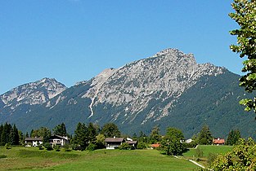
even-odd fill
[[[200,145],[210,145],[213,143],[213,136],[209,130],[208,125],[204,125],[203,128],[201,129],[197,138],[197,142]]]

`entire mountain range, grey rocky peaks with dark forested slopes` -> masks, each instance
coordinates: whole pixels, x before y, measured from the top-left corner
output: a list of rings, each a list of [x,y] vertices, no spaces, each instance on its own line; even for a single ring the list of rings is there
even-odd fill
[[[126,134],[174,126],[186,138],[207,124],[216,137],[227,136],[230,129],[254,136],[254,115],[238,105],[245,94],[239,77],[227,68],[197,64],[192,54],[167,49],[70,88],[52,80],[43,90],[34,85],[47,79],[20,85],[0,96],[0,121],[25,131],[65,122],[70,132],[79,121],[114,122]]]

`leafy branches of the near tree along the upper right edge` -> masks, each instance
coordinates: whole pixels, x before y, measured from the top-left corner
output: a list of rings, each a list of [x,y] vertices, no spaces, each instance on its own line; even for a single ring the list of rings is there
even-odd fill
[[[237,45],[231,45],[230,48],[240,54],[240,58],[247,57],[243,62],[242,72],[245,72],[245,75],[240,77],[240,86],[252,93],[256,90],[256,1],[234,0],[231,6],[235,12],[229,16],[236,20],[240,28],[231,30],[231,35],[237,36]],[[256,97],[242,99],[240,104],[245,106],[245,111],[256,112]]]

